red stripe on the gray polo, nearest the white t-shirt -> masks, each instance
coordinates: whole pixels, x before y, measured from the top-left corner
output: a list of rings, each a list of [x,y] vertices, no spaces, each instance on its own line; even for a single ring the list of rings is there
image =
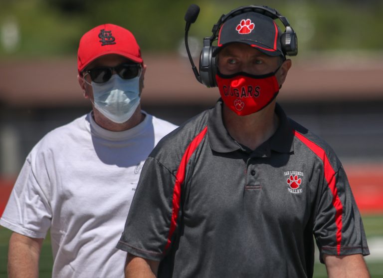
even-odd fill
[[[181,185],[185,180],[186,165],[188,165],[189,159],[192,156],[199,143],[202,141],[207,131],[207,126],[194,137],[192,142],[189,144],[184,155],[182,156],[180,165],[176,174],[176,183],[173,190],[173,209],[172,209],[172,221],[170,223],[170,230],[168,236],[168,243],[165,246],[165,251],[170,247],[172,243],[172,236],[177,227],[178,212],[180,211],[180,199],[181,199]]]

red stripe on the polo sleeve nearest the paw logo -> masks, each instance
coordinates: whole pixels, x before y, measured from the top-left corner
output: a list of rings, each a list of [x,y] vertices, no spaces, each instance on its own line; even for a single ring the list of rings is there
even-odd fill
[[[307,139],[302,134],[298,133],[294,130],[294,135],[303,142],[310,150],[312,150],[322,161],[324,165],[325,171],[325,179],[327,184],[333,194],[333,206],[335,208],[335,223],[337,225],[337,253],[340,255],[341,253],[341,240],[342,240],[342,213],[343,213],[343,205],[338,195],[338,189],[336,187],[335,181],[335,171],[330,164],[329,158],[326,155],[326,152],[315,144],[313,141]]]

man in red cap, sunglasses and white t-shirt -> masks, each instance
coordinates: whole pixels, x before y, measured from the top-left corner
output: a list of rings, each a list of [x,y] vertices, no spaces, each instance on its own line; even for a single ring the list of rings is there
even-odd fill
[[[142,165],[175,125],[141,110],[146,65],[133,34],[113,24],[85,33],[78,81],[92,111],[32,149],[0,224],[13,231],[9,277],[38,277],[50,229],[52,277],[123,277],[115,248]]]

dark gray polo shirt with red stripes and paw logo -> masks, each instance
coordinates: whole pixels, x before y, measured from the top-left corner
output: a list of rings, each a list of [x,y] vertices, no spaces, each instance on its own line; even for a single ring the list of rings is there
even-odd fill
[[[222,122],[222,102],[166,136],[145,162],[117,248],[176,278],[312,277],[323,254],[368,255],[334,151],[277,105],[256,150]],[[313,237],[314,235],[314,237]]]

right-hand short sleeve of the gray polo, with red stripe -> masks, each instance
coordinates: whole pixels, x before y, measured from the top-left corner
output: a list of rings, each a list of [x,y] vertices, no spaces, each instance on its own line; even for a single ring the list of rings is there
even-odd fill
[[[324,179],[314,236],[322,263],[323,254],[370,254],[362,218],[343,167]]]

